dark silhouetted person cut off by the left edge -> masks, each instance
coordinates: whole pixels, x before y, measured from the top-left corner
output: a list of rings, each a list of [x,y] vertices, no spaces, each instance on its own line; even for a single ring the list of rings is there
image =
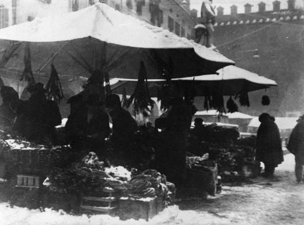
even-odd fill
[[[1,88],[2,105],[0,106],[0,124],[3,127],[12,127],[18,105],[21,103],[17,91],[12,87]]]

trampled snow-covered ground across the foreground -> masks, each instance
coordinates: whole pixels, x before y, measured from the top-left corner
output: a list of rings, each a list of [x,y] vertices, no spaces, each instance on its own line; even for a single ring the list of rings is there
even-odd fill
[[[223,186],[207,200],[188,200],[170,206],[149,222],[121,221],[118,217],[72,216],[47,209],[10,208],[0,203],[1,224],[304,224],[304,184],[294,178],[293,155],[285,155],[272,179],[258,177],[252,184]]]

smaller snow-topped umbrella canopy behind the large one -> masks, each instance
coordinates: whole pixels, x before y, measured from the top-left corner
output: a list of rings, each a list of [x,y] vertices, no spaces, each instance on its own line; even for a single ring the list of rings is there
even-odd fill
[[[171,83],[185,87],[192,87],[196,96],[211,95],[214,90],[222,90],[222,95],[236,95],[241,91],[250,92],[259,89],[277,86],[271,79],[258,76],[258,74],[237,66],[226,66],[219,69],[217,74],[209,74],[198,77],[186,77],[172,79]],[[136,86],[135,79],[112,79],[111,89],[113,93],[123,94],[124,89],[127,95],[131,95]],[[149,79],[148,85],[150,95],[157,96],[157,88],[166,83],[164,79]]]

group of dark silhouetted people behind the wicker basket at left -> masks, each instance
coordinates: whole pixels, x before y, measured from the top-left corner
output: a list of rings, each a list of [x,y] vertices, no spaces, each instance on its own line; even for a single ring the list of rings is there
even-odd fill
[[[42,83],[29,85],[27,91],[30,97],[23,101],[12,87],[1,88],[2,124],[29,141],[56,142],[55,126],[61,124],[58,105],[46,98]]]

